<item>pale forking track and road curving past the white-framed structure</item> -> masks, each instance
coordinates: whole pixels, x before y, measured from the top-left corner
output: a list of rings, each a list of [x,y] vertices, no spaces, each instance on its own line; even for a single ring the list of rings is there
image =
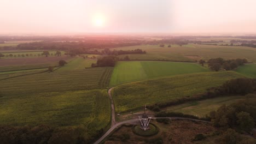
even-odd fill
[[[112,95],[111,95],[111,91],[112,91],[113,87],[110,88],[108,90],[108,95],[109,95],[109,99],[110,99],[110,103],[111,103],[111,115],[112,115],[112,119],[111,119],[111,128],[103,135],[101,136],[100,139],[98,139],[94,144],[98,144],[100,143],[102,140],[104,140],[115,128],[117,128],[119,125],[122,124],[126,124],[126,123],[135,123],[138,122],[138,119],[130,119],[124,122],[120,122],[120,123],[116,123],[115,122],[115,106],[113,103],[113,99],[112,99]],[[158,119],[158,118],[168,118],[168,119],[184,119],[184,120],[191,120],[191,121],[197,121],[197,122],[206,122],[209,123],[208,121],[203,121],[200,119],[193,119],[193,118],[184,118],[184,117],[153,117],[152,119]]]

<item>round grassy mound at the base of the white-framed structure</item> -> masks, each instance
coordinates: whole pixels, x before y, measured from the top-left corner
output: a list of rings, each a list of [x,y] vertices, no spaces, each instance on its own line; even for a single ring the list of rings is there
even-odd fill
[[[154,124],[149,124],[149,129],[144,131],[143,129],[141,129],[141,125],[135,125],[132,127],[132,131],[133,133],[135,133],[136,135],[139,136],[153,136],[158,134],[158,127],[156,127],[156,125]]]

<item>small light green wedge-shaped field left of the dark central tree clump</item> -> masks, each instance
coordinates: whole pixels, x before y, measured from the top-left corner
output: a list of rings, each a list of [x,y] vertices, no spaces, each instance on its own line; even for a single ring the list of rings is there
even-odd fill
[[[91,68],[92,63],[96,63],[96,60],[92,59],[84,59],[84,58],[76,58],[73,61],[69,62],[65,66],[57,69],[56,71],[66,71],[66,70],[79,70],[85,68]]]

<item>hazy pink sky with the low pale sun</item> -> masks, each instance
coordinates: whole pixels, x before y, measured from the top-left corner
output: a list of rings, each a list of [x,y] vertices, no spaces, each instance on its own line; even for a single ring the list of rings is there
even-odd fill
[[[255,0],[0,0],[0,34],[256,33]]]

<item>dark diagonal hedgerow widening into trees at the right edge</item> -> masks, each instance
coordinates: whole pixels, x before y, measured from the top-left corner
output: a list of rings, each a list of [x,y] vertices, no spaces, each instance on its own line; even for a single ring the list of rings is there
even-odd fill
[[[245,95],[253,91],[256,91],[256,79],[238,78],[226,81],[222,86],[209,88],[205,93],[148,105],[148,109],[159,112],[164,107],[183,104],[188,101],[221,97],[222,95]]]

